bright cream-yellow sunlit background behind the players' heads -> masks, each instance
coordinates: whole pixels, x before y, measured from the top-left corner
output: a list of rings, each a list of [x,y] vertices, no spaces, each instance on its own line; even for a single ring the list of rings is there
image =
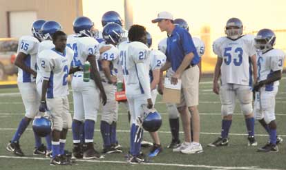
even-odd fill
[[[213,72],[216,56],[212,42],[225,35],[225,23],[231,17],[242,20],[245,33],[256,34],[262,28],[276,32],[276,47],[286,52],[286,1],[283,0],[129,0],[133,7],[133,23],[144,25],[153,36],[153,48],[166,32],[160,32],[157,24],[151,23],[158,12],[169,11],[176,18],[189,23],[192,36],[200,37],[206,44],[203,59],[204,72]],[[124,19],[124,0],[83,0],[83,14],[102,30],[101,18],[108,10],[117,11]]]

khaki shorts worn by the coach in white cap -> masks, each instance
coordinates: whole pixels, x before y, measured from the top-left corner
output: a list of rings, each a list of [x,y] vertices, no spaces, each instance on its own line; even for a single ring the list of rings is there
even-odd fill
[[[198,65],[184,70],[182,73],[182,89],[181,89],[181,102],[177,107],[182,106],[196,106],[198,105],[198,85],[200,78],[200,70]]]

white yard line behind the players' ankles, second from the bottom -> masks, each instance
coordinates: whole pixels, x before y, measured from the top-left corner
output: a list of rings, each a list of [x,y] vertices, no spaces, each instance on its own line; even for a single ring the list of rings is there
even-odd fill
[[[15,131],[17,130],[16,128],[0,128],[0,131]],[[26,130],[32,131],[31,128],[27,128]],[[71,131],[71,129],[68,129],[68,131]],[[100,129],[95,129],[95,131],[100,131]],[[130,133],[130,130],[120,130],[117,129],[117,132],[122,132],[122,133]],[[158,131],[160,134],[171,134],[170,131]],[[183,131],[180,131],[180,134],[183,134]],[[215,133],[215,132],[200,132],[200,134],[206,134],[206,135],[220,135],[220,133]],[[247,134],[229,134],[230,136],[247,136]],[[255,134],[255,136],[269,136],[268,134]],[[285,137],[286,135],[279,134],[281,137]]]

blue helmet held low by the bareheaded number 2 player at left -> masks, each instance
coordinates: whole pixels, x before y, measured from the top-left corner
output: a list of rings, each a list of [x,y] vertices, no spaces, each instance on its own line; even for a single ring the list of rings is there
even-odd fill
[[[45,137],[52,132],[52,122],[44,116],[35,118],[32,121],[32,129],[38,136]]]

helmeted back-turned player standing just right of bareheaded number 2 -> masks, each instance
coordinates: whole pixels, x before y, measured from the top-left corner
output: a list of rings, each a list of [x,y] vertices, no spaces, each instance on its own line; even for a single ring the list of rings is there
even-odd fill
[[[99,43],[93,37],[93,22],[88,17],[78,17],[73,22],[73,30],[76,34],[81,34],[76,41],[77,57],[73,57],[80,71],[73,74],[72,88],[74,100],[73,116],[73,157],[74,158],[102,158],[100,153],[93,146],[93,134],[97,113],[99,111],[100,100],[106,104],[106,94],[102,81],[97,70],[97,57],[99,56]],[[84,81],[83,66],[88,61],[90,63],[90,80]],[[82,125],[84,123],[84,125]],[[84,153],[80,147],[81,128],[84,127]]]

